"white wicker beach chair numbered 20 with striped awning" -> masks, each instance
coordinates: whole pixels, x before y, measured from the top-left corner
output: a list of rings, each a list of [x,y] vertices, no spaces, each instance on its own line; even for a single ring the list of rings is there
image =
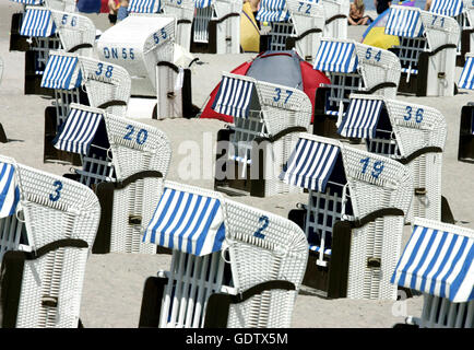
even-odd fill
[[[54,142],[82,156],[82,168],[66,176],[95,190],[102,207],[93,253],[156,253],[140,243],[162,192],[171,149],[165,133],[145,124],[71,104]]]

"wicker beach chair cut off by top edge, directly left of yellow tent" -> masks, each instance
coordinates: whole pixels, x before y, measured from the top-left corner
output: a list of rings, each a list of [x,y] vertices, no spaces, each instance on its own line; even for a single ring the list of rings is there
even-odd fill
[[[191,52],[240,54],[239,0],[194,0]]]

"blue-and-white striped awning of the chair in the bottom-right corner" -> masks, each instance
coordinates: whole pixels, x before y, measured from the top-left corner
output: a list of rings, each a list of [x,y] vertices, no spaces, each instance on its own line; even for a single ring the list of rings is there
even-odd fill
[[[415,222],[391,282],[451,302],[473,300],[474,234],[449,226],[448,232]]]

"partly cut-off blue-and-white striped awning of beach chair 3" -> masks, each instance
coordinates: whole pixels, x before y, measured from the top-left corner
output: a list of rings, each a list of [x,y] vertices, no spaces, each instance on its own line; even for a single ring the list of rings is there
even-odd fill
[[[15,213],[20,201],[20,189],[15,182],[15,168],[12,164],[0,162],[0,218]]]

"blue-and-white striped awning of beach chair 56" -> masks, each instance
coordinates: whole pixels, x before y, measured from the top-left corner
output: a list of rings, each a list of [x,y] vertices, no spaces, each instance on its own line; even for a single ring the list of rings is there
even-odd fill
[[[56,33],[51,12],[46,9],[27,9],[20,34],[24,36],[49,37]]]

